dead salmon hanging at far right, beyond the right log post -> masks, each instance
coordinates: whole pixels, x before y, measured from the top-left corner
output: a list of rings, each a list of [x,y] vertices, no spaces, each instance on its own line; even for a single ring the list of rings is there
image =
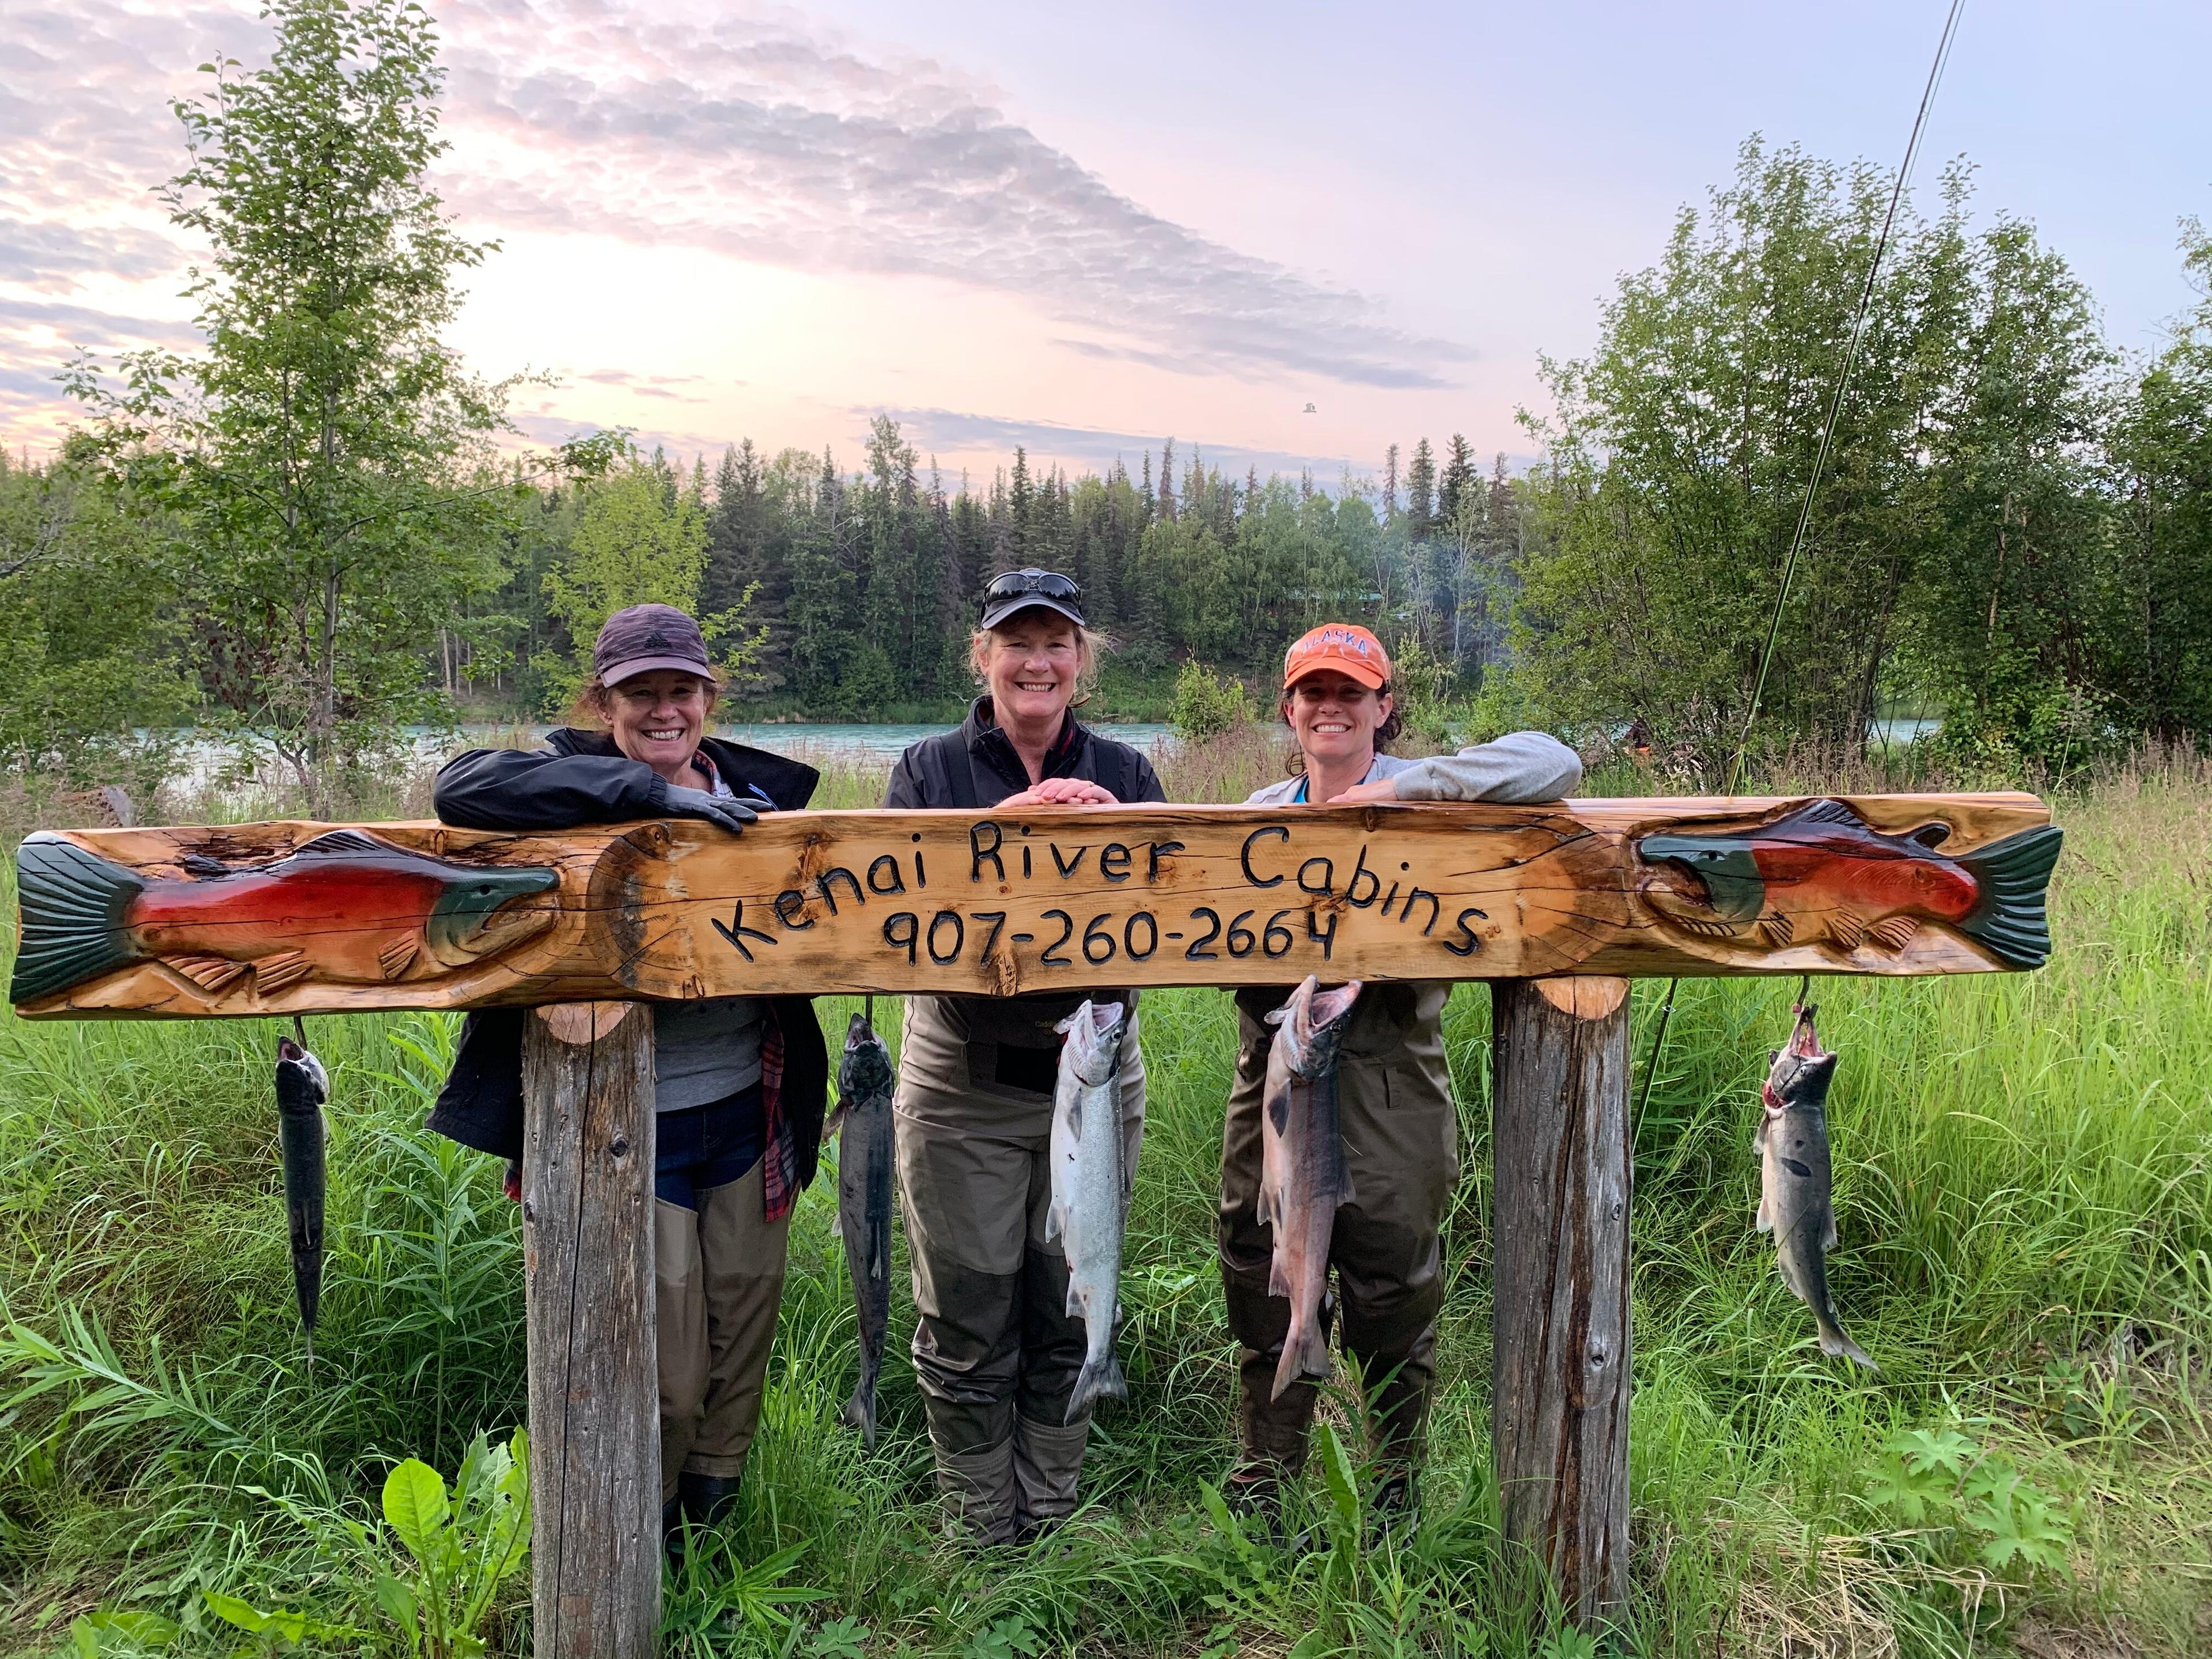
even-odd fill
[[[1827,1164],[1827,1086],[1836,1077],[1836,1055],[1820,1051],[1814,1009],[1796,1011],[1790,1046],[1774,1051],[1767,1079],[1759,1086],[1765,1113],[1759,1119],[1759,1230],[1774,1234],[1783,1283],[1812,1307],[1820,1352],[1849,1358],[1869,1371],[1880,1367],[1854,1343],[1827,1294],[1827,1252],[1836,1248],[1836,1203]]]

